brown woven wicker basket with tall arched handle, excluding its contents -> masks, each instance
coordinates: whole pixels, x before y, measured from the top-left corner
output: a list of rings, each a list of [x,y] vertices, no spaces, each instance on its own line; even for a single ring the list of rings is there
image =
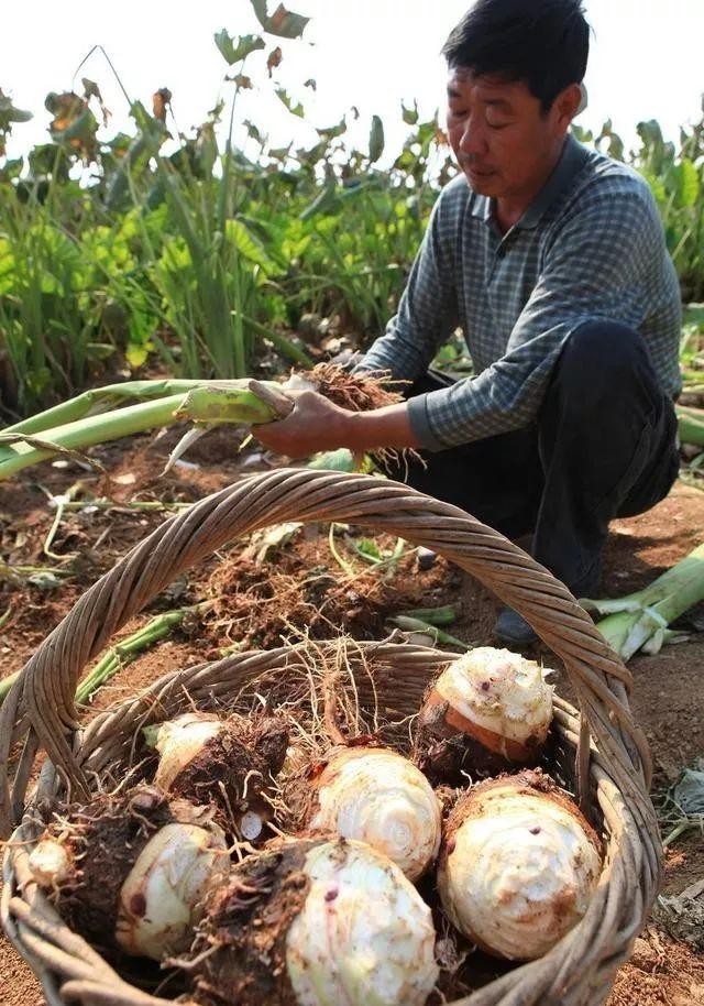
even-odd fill
[[[157,1006],[170,1000],[121,978],[67,929],[31,881],[28,854],[37,831],[23,811],[37,751],[44,748],[48,759],[31,802],[55,799],[67,786],[72,796],[84,796],[97,774],[119,763],[155,706],[158,719],[183,708],[184,686],[191,701],[207,706],[213,699],[227,701],[264,673],[278,681],[296,673],[305,644],[227,657],[162,678],[145,693],[98,715],[85,731],[73,701],[86,664],[174,578],[233,538],[290,520],[371,525],[435,549],[519,611],[564,661],[580,712],[558,701],[558,748],[583,810],[603,825],[603,875],[585,917],[546,956],[454,1006],[597,1006],[630,952],[660,879],[649,755],[628,708],[628,671],[561,583],[463,511],[400,483],[307,470],[253,475],[166,521],[84,594],[29,660],[2,706],[0,831],[7,838],[22,823],[8,843],[1,917],[48,1003]],[[373,686],[366,687],[360,675],[362,701],[374,692],[382,706],[405,713],[418,709],[429,674],[449,659],[438,650],[394,643],[359,644],[359,652],[376,668]],[[11,785],[9,756],[20,740],[24,745]]]

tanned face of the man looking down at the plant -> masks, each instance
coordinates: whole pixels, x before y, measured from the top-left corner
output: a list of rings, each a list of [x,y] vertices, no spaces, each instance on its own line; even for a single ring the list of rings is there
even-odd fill
[[[448,135],[458,164],[482,196],[520,198],[544,181],[569,119],[560,98],[544,116],[522,81],[452,69]]]

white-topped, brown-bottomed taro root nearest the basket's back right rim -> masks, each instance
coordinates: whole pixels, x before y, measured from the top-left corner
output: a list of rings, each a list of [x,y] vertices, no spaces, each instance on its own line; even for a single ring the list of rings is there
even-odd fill
[[[510,763],[535,762],[552,720],[552,686],[542,668],[508,649],[463,654],[429,689],[415,759],[433,783],[461,785]]]

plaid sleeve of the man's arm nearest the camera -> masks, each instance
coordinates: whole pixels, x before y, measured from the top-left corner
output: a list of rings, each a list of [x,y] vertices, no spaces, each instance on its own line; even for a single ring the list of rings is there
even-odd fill
[[[546,254],[506,353],[479,376],[409,402],[421,446],[442,450],[528,425],[569,336],[594,318],[638,328],[642,282],[664,236],[644,188],[585,197]]]

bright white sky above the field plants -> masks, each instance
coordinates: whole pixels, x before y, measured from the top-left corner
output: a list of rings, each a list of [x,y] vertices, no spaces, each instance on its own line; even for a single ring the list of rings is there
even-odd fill
[[[270,0],[270,10],[276,3]],[[302,43],[283,42],[284,63],[275,78],[302,100],[306,123],[266,88],[248,92],[238,116],[253,119],[274,145],[290,139],[297,145],[312,143],[314,125],[330,125],[355,105],[361,119],[353,131],[351,124],[351,138],[365,147],[371,116],[377,113],[389,152],[396,154],[407,132],[400,99],[410,103],[417,98],[425,118],[442,108],[446,78],[438,53],[471,0],[289,0],[287,6],[312,20]],[[701,114],[704,0],[585,0],[585,7],[594,34],[586,77],[590,107],[580,124],[598,130],[610,117],[629,143],[636,123],[654,118],[666,136],[675,139],[680,123]],[[10,156],[48,138],[44,97],[50,90],[70,89],[78,64],[95,44],[105,46],[128,92],[147,108],[153,91],[168,87],[178,128],[188,132],[206,118],[219,94],[231,94],[232,85],[222,84],[227,65],[213,32],[227,28],[230,34],[243,34],[258,28],[250,0],[183,6],[33,0],[12,3],[2,21],[0,87],[35,117],[15,127]],[[254,54],[245,68],[255,83],[265,80],[264,58],[265,53]],[[81,76],[98,83],[113,112],[103,135],[118,129],[133,132],[105,59],[94,54],[76,89]],[[317,80],[316,95],[302,87],[309,77]]]

